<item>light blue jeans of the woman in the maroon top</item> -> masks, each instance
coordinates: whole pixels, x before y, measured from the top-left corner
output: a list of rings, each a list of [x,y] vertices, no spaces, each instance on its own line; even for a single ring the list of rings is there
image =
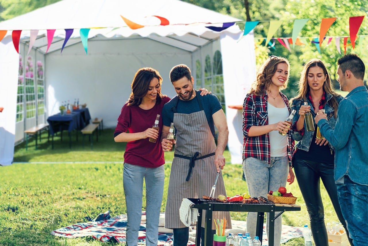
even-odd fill
[[[127,246],[137,246],[142,215],[143,179],[146,184],[146,245],[157,246],[164,185],[164,165],[146,168],[124,163],[123,186],[127,204]]]

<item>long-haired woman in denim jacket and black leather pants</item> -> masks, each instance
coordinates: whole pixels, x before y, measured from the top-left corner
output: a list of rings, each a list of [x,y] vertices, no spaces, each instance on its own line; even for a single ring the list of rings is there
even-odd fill
[[[293,118],[291,135],[299,141],[293,153],[295,176],[307,206],[311,231],[315,246],[328,245],[325,215],[320,192],[320,178],[335,208],[337,217],[345,228],[346,223],[337,199],[337,188],[333,177],[335,151],[328,141],[316,138],[315,131],[305,128],[304,114],[310,112],[315,117],[320,109],[325,109],[330,126],[337,120],[337,107],[343,97],[337,94],[325,65],[319,59],[309,60],[304,65],[299,82],[299,92],[290,100],[291,108],[297,113]],[[308,106],[304,106],[304,101]],[[351,239],[349,241],[352,244]]]

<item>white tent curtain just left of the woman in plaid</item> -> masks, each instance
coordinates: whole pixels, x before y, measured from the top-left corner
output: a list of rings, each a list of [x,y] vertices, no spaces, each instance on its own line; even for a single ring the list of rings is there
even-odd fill
[[[240,39],[242,35],[242,33],[226,33],[220,36],[226,119],[229,128],[227,146],[232,164],[243,162],[243,110],[228,106],[243,105],[245,95],[255,80],[256,74],[253,33]]]

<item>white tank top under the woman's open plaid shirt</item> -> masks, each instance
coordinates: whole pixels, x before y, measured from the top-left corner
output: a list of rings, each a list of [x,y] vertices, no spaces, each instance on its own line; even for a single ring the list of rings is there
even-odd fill
[[[279,121],[285,121],[289,116],[289,110],[286,105],[283,108],[276,108],[267,103],[268,124],[275,124]],[[287,156],[287,135],[283,136],[278,131],[269,132],[271,157]]]

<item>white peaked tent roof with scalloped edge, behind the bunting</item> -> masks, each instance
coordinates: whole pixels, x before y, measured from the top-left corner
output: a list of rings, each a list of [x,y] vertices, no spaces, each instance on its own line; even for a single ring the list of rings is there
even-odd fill
[[[144,27],[131,29],[120,15]],[[160,25],[154,16],[166,18],[170,24]],[[205,26],[237,21],[242,20],[180,0],[62,0],[0,22],[0,30],[8,30],[7,35],[11,30],[22,30],[23,43],[29,42],[30,30],[39,30],[33,47],[43,53],[47,50],[47,29],[56,29],[50,53],[61,50],[64,29],[74,29],[66,47],[81,42],[81,28],[91,28],[89,40],[148,38],[192,52],[219,38],[220,32]],[[241,30],[233,25],[222,32]]]

